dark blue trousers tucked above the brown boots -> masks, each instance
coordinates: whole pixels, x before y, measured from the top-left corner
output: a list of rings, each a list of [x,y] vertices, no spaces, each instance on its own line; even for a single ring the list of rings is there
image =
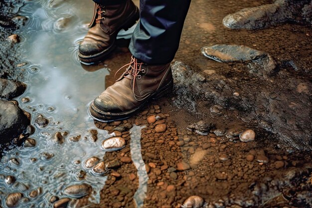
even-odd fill
[[[116,0],[94,0],[114,4]],[[119,0],[120,1],[120,0]],[[140,0],[140,21],[129,45],[132,55],[149,64],[173,60],[191,0]]]

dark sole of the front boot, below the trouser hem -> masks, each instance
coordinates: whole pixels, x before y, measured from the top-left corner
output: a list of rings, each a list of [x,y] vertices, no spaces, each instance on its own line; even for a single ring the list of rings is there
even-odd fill
[[[140,106],[138,106],[135,109],[132,109],[130,111],[122,112],[122,113],[109,113],[109,112],[103,112],[97,107],[94,106],[93,102],[89,106],[88,113],[91,118],[93,118],[96,121],[100,122],[112,122],[112,121],[118,121],[118,120],[125,120],[127,118],[130,118],[134,114],[136,114],[140,109],[142,109],[146,103],[153,99],[159,99],[160,97],[166,96],[168,94],[171,94],[173,88],[173,80],[171,80],[169,83],[167,83],[165,86],[163,86],[161,89],[156,91],[154,94],[151,95],[150,98],[146,99],[144,103],[142,103]]]

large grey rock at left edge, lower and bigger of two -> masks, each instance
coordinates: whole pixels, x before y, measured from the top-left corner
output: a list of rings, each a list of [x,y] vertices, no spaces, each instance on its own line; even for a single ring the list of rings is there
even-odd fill
[[[0,100],[0,144],[23,133],[30,121],[15,102]]]

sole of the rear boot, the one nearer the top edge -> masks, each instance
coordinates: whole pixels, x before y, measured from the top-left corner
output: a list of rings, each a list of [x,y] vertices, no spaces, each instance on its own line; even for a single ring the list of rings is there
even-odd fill
[[[116,34],[118,34],[118,32],[121,29],[124,30],[128,30],[130,27],[132,27],[136,21],[140,18],[140,11],[139,8],[136,6],[136,11],[130,15],[130,17],[128,17],[127,21],[125,21],[125,23],[118,28],[115,32]],[[116,38],[114,39],[114,42],[112,43],[112,45],[108,48],[106,48],[105,50],[96,53],[96,54],[92,54],[92,55],[83,55],[78,51],[78,58],[80,59],[80,61],[85,62],[85,63],[94,63],[94,62],[99,62],[102,61],[107,55],[109,55],[115,48],[116,48]]]

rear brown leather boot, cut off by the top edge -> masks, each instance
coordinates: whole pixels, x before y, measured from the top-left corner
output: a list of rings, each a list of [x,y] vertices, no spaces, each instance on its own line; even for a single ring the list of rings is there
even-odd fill
[[[103,60],[115,48],[118,32],[130,28],[139,16],[139,8],[132,0],[115,5],[95,4],[91,28],[79,45],[79,59],[87,63]]]

